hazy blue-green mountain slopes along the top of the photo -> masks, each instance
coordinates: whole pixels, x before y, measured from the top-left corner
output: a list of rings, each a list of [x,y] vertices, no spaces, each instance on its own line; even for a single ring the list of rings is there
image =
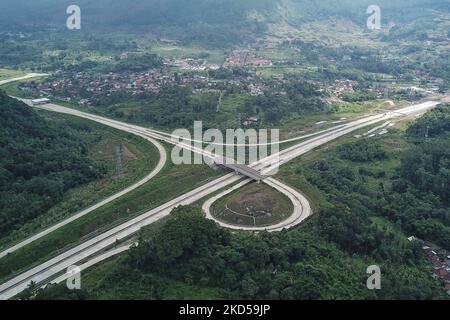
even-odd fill
[[[64,26],[66,8],[71,4],[73,1],[69,0],[2,0],[0,24]],[[374,3],[372,0],[79,0],[76,4],[82,9],[83,27],[90,30],[142,26],[146,32],[177,27],[188,27],[188,31],[213,28],[218,31],[215,36],[220,37],[236,29],[258,32],[267,23],[281,21],[302,23],[333,16],[353,21],[366,19],[366,9]],[[450,10],[448,0],[379,0],[377,5],[385,17],[397,21]]]

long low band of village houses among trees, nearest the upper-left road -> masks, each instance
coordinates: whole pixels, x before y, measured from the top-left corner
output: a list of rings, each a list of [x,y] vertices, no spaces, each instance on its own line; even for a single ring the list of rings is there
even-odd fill
[[[79,103],[89,105],[90,98],[110,96],[117,91],[132,94],[158,93],[161,88],[171,85],[191,87],[194,93],[220,92],[224,85],[241,87],[255,96],[262,95],[267,90],[262,82],[252,76],[236,75],[231,79],[214,79],[207,72],[173,73],[168,67],[144,72],[107,74],[57,71],[46,82],[27,82],[21,84],[20,88],[31,92],[34,98],[57,98],[64,101],[81,99]]]

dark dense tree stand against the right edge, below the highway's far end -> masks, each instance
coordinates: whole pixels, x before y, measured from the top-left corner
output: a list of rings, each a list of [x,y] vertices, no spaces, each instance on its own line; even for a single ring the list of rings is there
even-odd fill
[[[412,125],[386,215],[405,230],[450,248],[450,105]]]

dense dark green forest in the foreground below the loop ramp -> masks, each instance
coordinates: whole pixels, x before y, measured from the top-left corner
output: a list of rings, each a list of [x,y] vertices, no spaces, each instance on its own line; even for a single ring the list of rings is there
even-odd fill
[[[430,299],[441,298],[423,266],[420,246],[377,230],[366,216],[337,208],[306,226],[281,233],[232,233],[181,207],[131,250],[94,288],[63,285],[34,299]],[[339,223],[334,226],[339,219]],[[352,235],[349,243],[334,235]],[[338,235],[339,236],[339,235]],[[347,241],[347,240],[346,240]],[[375,247],[376,251],[371,251]],[[345,247],[345,249],[344,249]],[[361,249],[363,248],[363,249]],[[377,260],[377,259],[388,260]],[[368,263],[388,261],[383,290],[367,290]],[[171,289],[171,287],[173,289]],[[176,288],[176,289],[175,289]],[[32,289],[32,288],[30,288]],[[31,290],[30,290],[31,291]],[[24,292],[22,297],[31,295]],[[170,295],[168,296],[168,291]],[[205,296],[202,296],[204,292]]]

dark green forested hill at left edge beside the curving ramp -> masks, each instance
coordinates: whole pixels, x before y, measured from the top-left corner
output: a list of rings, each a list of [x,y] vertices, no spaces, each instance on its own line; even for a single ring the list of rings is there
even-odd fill
[[[0,235],[42,214],[65,191],[100,175],[62,126],[0,91]]]

